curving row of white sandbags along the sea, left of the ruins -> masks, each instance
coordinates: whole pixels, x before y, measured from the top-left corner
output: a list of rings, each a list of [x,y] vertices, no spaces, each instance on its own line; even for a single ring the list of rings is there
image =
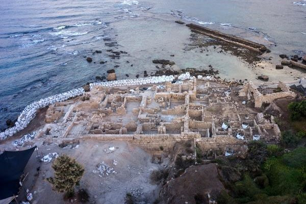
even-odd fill
[[[67,100],[68,98],[74,97],[74,96],[80,96],[85,93],[83,88],[78,89],[72,89],[70,91],[59,93],[56,95],[48,96],[46,98],[42,98],[38,101],[34,101],[32,104],[26,106],[21,114],[19,115],[17,121],[15,122],[15,125],[13,127],[10,127],[6,131],[0,133],[0,140],[4,140],[7,137],[13,136],[18,131],[23,130],[25,127],[28,126],[28,124],[31,122],[31,120],[35,117],[37,109],[49,106],[51,104],[54,104],[56,102]]]

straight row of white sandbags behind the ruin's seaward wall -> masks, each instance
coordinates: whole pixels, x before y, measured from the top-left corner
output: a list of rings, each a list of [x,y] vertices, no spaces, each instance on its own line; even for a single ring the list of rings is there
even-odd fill
[[[118,81],[109,81],[109,82],[99,82],[89,84],[90,89],[95,86],[105,86],[105,87],[114,87],[114,86],[131,86],[131,85],[144,85],[144,84],[158,84],[163,82],[172,82],[174,80],[173,75],[162,75],[160,77],[146,77],[139,79],[125,79]]]

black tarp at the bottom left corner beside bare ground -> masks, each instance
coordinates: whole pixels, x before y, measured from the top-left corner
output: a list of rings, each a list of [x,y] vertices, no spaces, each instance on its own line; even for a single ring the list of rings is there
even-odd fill
[[[23,151],[4,151],[0,155],[0,200],[17,195],[20,176],[35,148]]]

